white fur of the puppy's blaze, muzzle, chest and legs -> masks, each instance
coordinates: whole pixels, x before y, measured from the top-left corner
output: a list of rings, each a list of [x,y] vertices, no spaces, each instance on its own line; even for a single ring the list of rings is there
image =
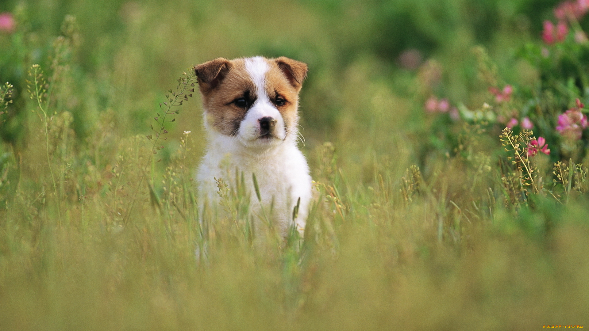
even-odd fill
[[[260,203],[253,187],[252,173],[256,174],[266,213],[273,201],[273,222],[282,234],[292,224],[293,208],[300,198],[296,228],[302,235],[312,198],[311,177],[305,157],[297,147],[296,130],[284,130],[280,112],[270,102],[264,90],[264,73],[268,69],[261,57],[246,59],[246,69],[256,85],[257,100],[241,122],[236,137],[213,130],[204,114],[209,145],[197,174],[201,197],[211,206],[219,206],[214,178],[236,183],[236,168],[243,171],[254,214],[260,215]],[[276,123],[276,138],[260,140],[259,118],[270,116]],[[295,123],[296,125],[296,123]]]

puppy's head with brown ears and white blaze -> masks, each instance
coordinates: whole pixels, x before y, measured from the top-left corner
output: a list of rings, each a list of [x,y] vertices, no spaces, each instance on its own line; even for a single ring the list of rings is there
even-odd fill
[[[206,125],[248,147],[270,147],[293,137],[307,65],[293,59],[217,58],[194,67]]]

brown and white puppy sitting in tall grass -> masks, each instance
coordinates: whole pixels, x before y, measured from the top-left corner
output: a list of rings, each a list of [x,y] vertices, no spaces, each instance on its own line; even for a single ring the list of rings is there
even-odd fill
[[[217,58],[194,70],[208,135],[197,174],[201,196],[217,206],[214,178],[237,183],[236,173],[243,172],[254,213],[272,204],[273,226],[285,236],[298,204],[294,226],[302,235],[312,197],[309,166],[297,147],[297,107],[307,65],[286,57]]]

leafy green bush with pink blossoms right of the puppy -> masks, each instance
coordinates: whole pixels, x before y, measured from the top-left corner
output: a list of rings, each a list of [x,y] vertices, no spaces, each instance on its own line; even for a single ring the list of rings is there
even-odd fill
[[[438,116],[448,116],[444,115],[447,113],[452,118],[457,108],[459,119],[484,119],[485,125],[495,128],[488,132],[496,133],[505,127],[515,133],[533,129],[541,137],[530,141],[528,156],[538,152],[550,154],[550,143],[553,160],[566,160],[573,155],[582,158],[584,147],[589,145],[589,137],[583,134],[589,127],[583,104],[589,100],[589,64],[584,60],[589,58],[589,41],[580,21],[588,12],[589,0],[562,1],[553,10],[556,22],[545,20],[538,41],[525,45],[518,53],[537,71],[540,84],[501,84],[503,80],[485,49],[476,47],[479,77],[487,85],[487,102],[479,110],[469,110],[461,102],[429,92],[423,104],[425,110]]]

